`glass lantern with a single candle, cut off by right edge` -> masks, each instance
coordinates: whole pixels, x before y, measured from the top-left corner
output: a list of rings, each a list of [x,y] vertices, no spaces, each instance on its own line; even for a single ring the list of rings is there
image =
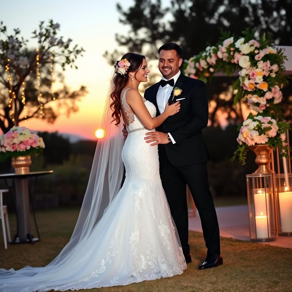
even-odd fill
[[[292,174],[277,173],[275,180],[278,234],[280,236],[292,236]]]

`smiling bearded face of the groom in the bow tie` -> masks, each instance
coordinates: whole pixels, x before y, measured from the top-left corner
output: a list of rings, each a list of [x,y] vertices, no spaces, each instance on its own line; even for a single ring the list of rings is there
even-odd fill
[[[171,79],[178,73],[183,59],[180,58],[175,50],[161,50],[159,53],[158,68],[165,79]]]

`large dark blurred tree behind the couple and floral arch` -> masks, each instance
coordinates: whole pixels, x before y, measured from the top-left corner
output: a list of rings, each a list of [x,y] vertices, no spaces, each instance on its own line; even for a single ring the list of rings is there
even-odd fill
[[[157,59],[158,48],[166,42],[179,44],[183,58],[189,59],[207,45],[215,45],[220,30],[241,35],[246,27],[256,29],[258,35],[270,34],[276,45],[290,46],[292,34],[287,32],[292,29],[291,4],[292,0],[172,0],[169,7],[163,7],[161,0],[135,0],[126,9],[117,4],[120,22],[130,31],[117,34],[116,41],[128,51],[142,53],[147,60]],[[112,65],[121,55],[117,50],[104,54]],[[228,99],[231,84],[228,77],[214,78],[207,84],[208,98],[215,102],[210,113],[212,125],[219,123],[216,119],[219,109],[227,120],[242,121],[240,105],[234,109],[230,103],[232,96]],[[222,94],[219,98],[218,88],[226,98]]]

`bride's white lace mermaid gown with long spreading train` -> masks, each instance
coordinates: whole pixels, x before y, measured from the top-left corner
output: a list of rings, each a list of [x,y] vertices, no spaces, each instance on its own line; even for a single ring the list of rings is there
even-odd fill
[[[149,130],[129,111],[125,94],[122,104],[131,123],[122,150],[126,179],[121,190],[62,265],[0,269],[1,292],[128,285],[179,275],[187,268],[159,177],[157,145],[145,142]],[[145,105],[155,117],[155,106]]]

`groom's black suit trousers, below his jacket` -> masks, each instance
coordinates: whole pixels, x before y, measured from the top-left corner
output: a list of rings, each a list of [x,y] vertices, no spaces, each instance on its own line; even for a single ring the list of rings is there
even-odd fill
[[[183,253],[190,253],[188,244],[189,221],[186,185],[189,186],[198,209],[207,253],[220,253],[220,236],[217,215],[209,191],[206,163],[173,166],[167,159],[164,145],[159,147],[159,171],[171,215],[176,225]]]

